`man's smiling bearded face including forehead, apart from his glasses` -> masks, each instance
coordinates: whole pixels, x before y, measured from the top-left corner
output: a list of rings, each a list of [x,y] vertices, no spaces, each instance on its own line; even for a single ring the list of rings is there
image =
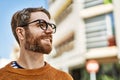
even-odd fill
[[[49,18],[43,12],[34,12],[31,14],[30,21],[43,19],[49,22]],[[49,54],[52,50],[52,30],[42,30],[37,22],[29,24],[29,28],[25,32],[26,41],[25,49],[33,52]]]

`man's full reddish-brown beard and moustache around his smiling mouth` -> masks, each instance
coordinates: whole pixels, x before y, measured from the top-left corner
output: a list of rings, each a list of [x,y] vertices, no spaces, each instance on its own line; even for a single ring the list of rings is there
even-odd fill
[[[43,53],[43,54],[49,54],[51,52],[52,50],[51,35],[40,35],[40,36],[34,37],[29,30],[26,30],[25,36],[26,36],[26,41],[25,41],[26,50]],[[50,38],[50,43],[49,44],[42,43],[42,40],[44,40],[47,37]]]

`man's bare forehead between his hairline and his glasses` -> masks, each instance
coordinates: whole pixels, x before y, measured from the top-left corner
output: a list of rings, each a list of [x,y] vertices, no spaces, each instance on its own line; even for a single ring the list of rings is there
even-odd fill
[[[37,19],[43,19],[47,22],[49,22],[49,18],[47,16],[47,14],[45,14],[44,12],[32,12],[31,13],[31,17],[30,17],[30,21],[34,21],[34,20],[37,20]]]

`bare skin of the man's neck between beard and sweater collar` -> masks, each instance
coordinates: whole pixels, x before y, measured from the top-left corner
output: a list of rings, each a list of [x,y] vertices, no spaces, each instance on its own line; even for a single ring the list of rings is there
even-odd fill
[[[41,68],[45,65],[44,55],[42,53],[21,50],[17,63],[26,69]]]

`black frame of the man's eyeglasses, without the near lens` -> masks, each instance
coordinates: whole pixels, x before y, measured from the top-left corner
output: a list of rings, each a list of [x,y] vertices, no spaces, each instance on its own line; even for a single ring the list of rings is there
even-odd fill
[[[41,28],[42,30],[47,30],[47,29],[48,29],[48,26],[50,26],[50,27],[54,30],[53,33],[56,32],[56,25],[53,24],[53,23],[48,23],[48,22],[46,22],[46,21],[43,20],[43,19],[37,19],[37,20],[35,20],[35,21],[32,21],[32,22],[29,22],[29,23],[27,23],[27,24],[21,25],[21,27],[28,26],[29,24],[34,23],[34,22],[39,22],[39,24],[45,23],[45,28],[43,28],[43,27],[40,26],[40,28]]]

